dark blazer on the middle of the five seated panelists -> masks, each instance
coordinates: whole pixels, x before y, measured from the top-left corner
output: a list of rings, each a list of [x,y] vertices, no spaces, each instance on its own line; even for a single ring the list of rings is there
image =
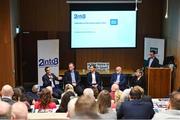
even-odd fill
[[[95,72],[95,76],[96,76],[96,84],[98,85],[97,88],[98,90],[102,90],[102,81],[100,78],[100,74],[98,72]],[[89,72],[87,74],[87,87],[92,87],[92,74],[91,72]]]

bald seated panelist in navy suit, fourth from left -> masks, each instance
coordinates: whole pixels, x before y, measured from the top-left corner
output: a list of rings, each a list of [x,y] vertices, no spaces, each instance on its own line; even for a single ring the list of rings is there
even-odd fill
[[[112,74],[110,84],[111,86],[113,84],[118,84],[120,90],[126,89],[127,86],[126,75],[122,74],[122,68],[120,66],[117,66],[116,72]]]

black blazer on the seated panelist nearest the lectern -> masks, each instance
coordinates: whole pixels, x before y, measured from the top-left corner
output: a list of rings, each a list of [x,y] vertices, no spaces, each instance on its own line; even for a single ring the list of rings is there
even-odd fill
[[[140,86],[142,88],[145,88],[145,78],[144,78],[144,76],[142,76],[139,80],[137,80],[136,76],[132,77],[131,82],[130,82],[130,86],[134,87],[136,85],[138,85],[138,86]]]

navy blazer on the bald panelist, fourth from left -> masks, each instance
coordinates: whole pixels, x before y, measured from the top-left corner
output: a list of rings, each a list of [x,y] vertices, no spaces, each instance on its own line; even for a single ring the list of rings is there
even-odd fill
[[[116,82],[116,79],[117,79],[117,73],[113,73],[110,81],[111,86]],[[126,89],[126,86],[127,86],[126,75],[120,74],[120,82],[119,82],[120,90]]]

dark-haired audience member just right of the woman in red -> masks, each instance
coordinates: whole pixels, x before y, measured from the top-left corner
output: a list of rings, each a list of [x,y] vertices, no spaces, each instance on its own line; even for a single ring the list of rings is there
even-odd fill
[[[61,104],[56,112],[67,112],[68,103],[72,97],[75,97],[74,92],[67,91],[61,98]]]

